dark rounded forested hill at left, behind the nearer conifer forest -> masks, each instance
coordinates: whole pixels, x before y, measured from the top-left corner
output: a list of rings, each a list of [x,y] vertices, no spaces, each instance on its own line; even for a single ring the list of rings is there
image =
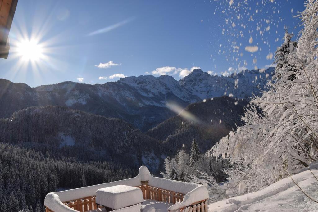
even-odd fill
[[[0,142],[58,149],[77,161],[147,165],[158,172],[162,147],[127,122],[61,106],[30,107],[0,120]],[[127,154],[125,157],[122,155]]]

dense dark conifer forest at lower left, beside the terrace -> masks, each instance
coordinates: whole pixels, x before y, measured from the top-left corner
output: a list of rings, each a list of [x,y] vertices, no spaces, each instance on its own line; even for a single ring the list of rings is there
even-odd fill
[[[59,188],[78,188],[129,178],[134,171],[111,162],[76,162],[41,147],[0,143],[1,211],[43,211],[44,198]]]

